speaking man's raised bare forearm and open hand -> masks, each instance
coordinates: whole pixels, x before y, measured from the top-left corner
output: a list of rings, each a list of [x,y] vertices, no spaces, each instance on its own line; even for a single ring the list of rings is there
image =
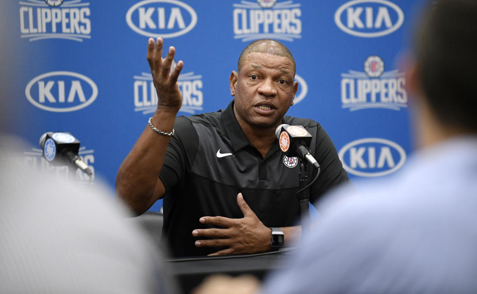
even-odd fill
[[[169,47],[162,58],[162,39],[148,40],[148,62],[153,82],[158,92],[158,108],[151,119],[153,126],[162,132],[172,132],[175,116],[182,106],[182,94],[177,78],[184,66],[179,61],[170,72],[175,48]],[[147,211],[165,193],[159,173],[164,162],[170,136],[158,134],[146,126],[138,141],[119,167],[116,193],[137,214]]]

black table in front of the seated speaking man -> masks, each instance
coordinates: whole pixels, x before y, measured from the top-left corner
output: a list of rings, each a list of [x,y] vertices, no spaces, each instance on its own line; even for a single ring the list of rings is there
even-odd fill
[[[190,293],[204,278],[212,274],[250,274],[262,280],[267,272],[283,268],[280,260],[294,252],[293,249],[285,249],[262,254],[175,258],[166,261],[166,268],[176,278],[179,289],[185,294]]]

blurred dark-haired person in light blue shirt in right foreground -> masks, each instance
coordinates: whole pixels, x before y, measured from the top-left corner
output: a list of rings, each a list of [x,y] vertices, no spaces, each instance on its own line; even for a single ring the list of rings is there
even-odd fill
[[[323,201],[261,293],[477,293],[477,1],[434,1],[416,31],[406,83],[419,150],[394,177]]]

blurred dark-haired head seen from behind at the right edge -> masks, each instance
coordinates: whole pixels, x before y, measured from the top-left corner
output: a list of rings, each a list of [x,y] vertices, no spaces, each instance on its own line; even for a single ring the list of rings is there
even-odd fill
[[[426,9],[413,39],[411,88],[440,125],[477,133],[477,1],[439,0]]]

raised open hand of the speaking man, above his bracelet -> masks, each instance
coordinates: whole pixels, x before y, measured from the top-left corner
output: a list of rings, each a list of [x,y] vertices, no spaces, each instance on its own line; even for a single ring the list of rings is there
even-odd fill
[[[147,59],[151,67],[154,86],[158,93],[158,110],[177,112],[182,106],[182,94],[177,84],[177,77],[184,63],[182,61],[177,62],[171,72],[170,68],[174,59],[175,48],[170,46],[166,57],[162,58],[162,46],[161,38],[158,38],[156,43],[153,38],[148,41]]]

